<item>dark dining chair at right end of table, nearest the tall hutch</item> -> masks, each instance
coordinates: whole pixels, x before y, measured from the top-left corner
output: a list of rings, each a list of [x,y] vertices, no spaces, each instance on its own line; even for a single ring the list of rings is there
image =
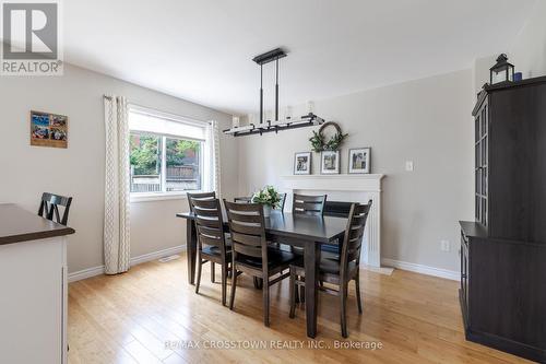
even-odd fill
[[[368,204],[354,203],[351,207],[341,255],[323,255],[320,260],[319,280],[336,285],[337,290],[323,285],[319,286],[319,290],[340,297],[341,331],[344,338],[348,337],[346,314],[347,286],[352,280],[355,281],[356,285],[356,303],[358,306],[358,314],[363,313],[358,266],[360,262],[364,228],[366,227],[366,220],[368,219],[370,208],[371,200]],[[305,285],[305,268],[301,261],[299,261],[290,265],[290,318],[295,317],[296,287],[301,285]]]

